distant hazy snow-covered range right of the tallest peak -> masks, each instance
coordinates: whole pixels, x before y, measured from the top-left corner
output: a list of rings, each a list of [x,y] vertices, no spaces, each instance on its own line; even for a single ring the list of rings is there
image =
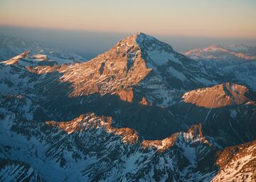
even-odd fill
[[[256,48],[245,45],[211,45],[190,50],[184,54],[196,59],[208,72],[218,72],[229,77],[228,81],[245,84],[256,91]]]

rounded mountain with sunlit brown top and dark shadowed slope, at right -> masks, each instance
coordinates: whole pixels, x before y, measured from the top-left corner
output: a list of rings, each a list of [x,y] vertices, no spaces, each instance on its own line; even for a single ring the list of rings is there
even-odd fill
[[[202,123],[208,140],[217,146],[250,142],[255,138],[255,98],[247,87],[225,83],[188,91],[183,102],[172,107],[175,113]],[[188,122],[186,122],[188,123]]]

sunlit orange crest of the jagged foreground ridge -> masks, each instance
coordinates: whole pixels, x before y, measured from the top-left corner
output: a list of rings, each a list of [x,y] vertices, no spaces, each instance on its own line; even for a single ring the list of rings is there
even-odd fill
[[[137,135],[136,130],[132,130],[129,127],[112,127],[111,117],[98,117],[94,113],[80,115],[78,118],[68,122],[47,121],[46,124],[52,127],[59,127],[68,134],[103,127],[105,128],[106,132],[121,136],[122,142],[124,143],[134,144],[139,141],[139,136]],[[165,152],[175,144],[179,135],[185,137],[186,140],[208,143],[208,141],[203,137],[201,130],[201,125],[193,125],[188,132],[178,132],[171,135],[171,137],[166,137],[164,140],[144,140],[142,142],[142,148],[147,149],[153,147],[156,148],[158,152]]]

